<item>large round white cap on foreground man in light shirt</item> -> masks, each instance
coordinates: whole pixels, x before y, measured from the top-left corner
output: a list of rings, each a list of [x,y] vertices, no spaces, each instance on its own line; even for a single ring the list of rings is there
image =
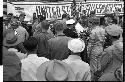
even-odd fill
[[[80,38],[72,39],[68,41],[68,48],[74,53],[82,52],[85,48],[85,43]]]

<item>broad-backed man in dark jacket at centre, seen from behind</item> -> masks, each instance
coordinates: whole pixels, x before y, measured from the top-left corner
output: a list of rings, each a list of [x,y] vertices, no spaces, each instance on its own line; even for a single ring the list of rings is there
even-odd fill
[[[56,37],[49,39],[49,56],[50,59],[63,60],[69,56],[69,49],[67,46],[70,37],[65,36],[63,33],[64,23],[58,21],[54,23],[54,29],[56,31]]]

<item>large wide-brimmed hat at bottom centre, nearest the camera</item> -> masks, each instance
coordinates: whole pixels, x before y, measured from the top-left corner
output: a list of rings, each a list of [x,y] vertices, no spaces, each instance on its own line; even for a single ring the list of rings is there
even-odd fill
[[[36,77],[38,81],[77,81],[72,68],[60,60],[41,64],[37,69]]]

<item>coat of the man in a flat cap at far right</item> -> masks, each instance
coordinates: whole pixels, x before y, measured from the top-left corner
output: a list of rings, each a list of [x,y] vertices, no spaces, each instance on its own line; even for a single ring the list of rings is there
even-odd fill
[[[105,80],[105,76],[110,73],[114,73],[117,68],[120,68],[123,63],[123,43],[115,43],[112,46],[106,48],[102,53],[100,64],[103,69],[103,75],[100,78],[101,81]],[[112,79],[112,78],[110,78]]]

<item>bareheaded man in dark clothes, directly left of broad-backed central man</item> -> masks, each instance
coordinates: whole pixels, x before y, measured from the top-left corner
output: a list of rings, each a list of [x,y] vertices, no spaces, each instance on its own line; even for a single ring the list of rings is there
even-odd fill
[[[34,35],[34,37],[38,41],[38,50],[37,50],[37,55],[39,57],[46,57],[48,55],[48,40],[51,38],[54,38],[53,34],[50,34],[47,32],[49,29],[49,22],[46,20],[41,22],[41,32],[40,34]]]

